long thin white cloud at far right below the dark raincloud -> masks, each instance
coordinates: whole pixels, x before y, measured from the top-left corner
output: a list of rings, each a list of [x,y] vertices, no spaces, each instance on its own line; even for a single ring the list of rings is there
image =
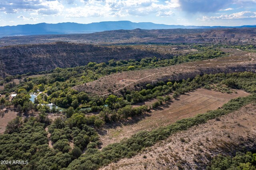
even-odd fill
[[[202,19],[198,19],[198,20],[201,20],[201,21],[234,20],[234,19],[244,19],[244,18],[256,18],[256,12],[243,11],[243,12],[237,12],[233,14],[224,14],[221,16],[203,16]]]

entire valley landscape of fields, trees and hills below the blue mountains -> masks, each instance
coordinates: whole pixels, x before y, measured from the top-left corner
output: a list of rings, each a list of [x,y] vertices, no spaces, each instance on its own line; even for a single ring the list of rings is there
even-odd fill
[[[254,33],[1,38],[0,156],[29,163],[0,169],[214,169],[256,153]]]

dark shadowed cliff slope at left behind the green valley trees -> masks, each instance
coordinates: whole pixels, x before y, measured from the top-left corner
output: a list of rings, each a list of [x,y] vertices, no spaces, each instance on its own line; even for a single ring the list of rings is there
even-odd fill
[[[56,67],[76,67],[89,62],[107,62],[110,59],[140,59],[170,57],[130,47],[103,47],[74,43],[18,45],[0,48],[0,77],[48,71]]]

